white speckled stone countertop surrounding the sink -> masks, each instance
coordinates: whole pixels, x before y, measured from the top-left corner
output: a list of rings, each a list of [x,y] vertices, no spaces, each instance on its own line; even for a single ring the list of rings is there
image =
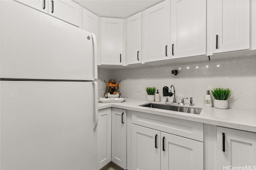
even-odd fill
[[[139,105],[150,103],[146,100],[138,100],[127,98],[121,103],[101,103],[98,102],[98,109],[105,109],[108,107],[116,107],[120,109],[140,111],[154,115],[162,115],[167,117],[174,117],[189,121],[196,121],[210,125],[217,125],[228,127],[232,129],[239,129],[243,131],[256,132],[256,111],[244,109],[216,109],[215,107],[203,107],[200,115],[170,111],[164,109],[156,109],[150,107],[142,107]],[[152,102],[164,103],[164,102]],[[186,106],[188,106],[186,104]],[[197,107],[197,106],[194,106]]]

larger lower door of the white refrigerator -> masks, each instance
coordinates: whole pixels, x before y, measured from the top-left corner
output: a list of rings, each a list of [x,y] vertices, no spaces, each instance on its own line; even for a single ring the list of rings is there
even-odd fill
[[[0,81],[0,87],[0,169],[97,169],[92,82]]]

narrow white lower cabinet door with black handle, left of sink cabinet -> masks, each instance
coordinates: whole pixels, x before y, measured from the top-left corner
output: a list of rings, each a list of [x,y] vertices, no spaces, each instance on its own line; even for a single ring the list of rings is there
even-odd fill
[[[126,169],[126,110],[112,109],[112,162]]]

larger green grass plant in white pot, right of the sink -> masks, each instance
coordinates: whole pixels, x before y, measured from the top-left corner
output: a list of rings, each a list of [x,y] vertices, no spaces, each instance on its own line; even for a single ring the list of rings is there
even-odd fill
[[[212,96],[215,98],[214,107],[218,109],[228,108],[228,98],[233,94],[230,88],[214,88],[211,90]]]

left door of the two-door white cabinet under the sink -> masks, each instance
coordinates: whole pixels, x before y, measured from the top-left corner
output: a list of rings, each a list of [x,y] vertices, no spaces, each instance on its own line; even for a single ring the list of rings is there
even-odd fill
[[[160,131],[132,124],[132,170],[160,170]]]

